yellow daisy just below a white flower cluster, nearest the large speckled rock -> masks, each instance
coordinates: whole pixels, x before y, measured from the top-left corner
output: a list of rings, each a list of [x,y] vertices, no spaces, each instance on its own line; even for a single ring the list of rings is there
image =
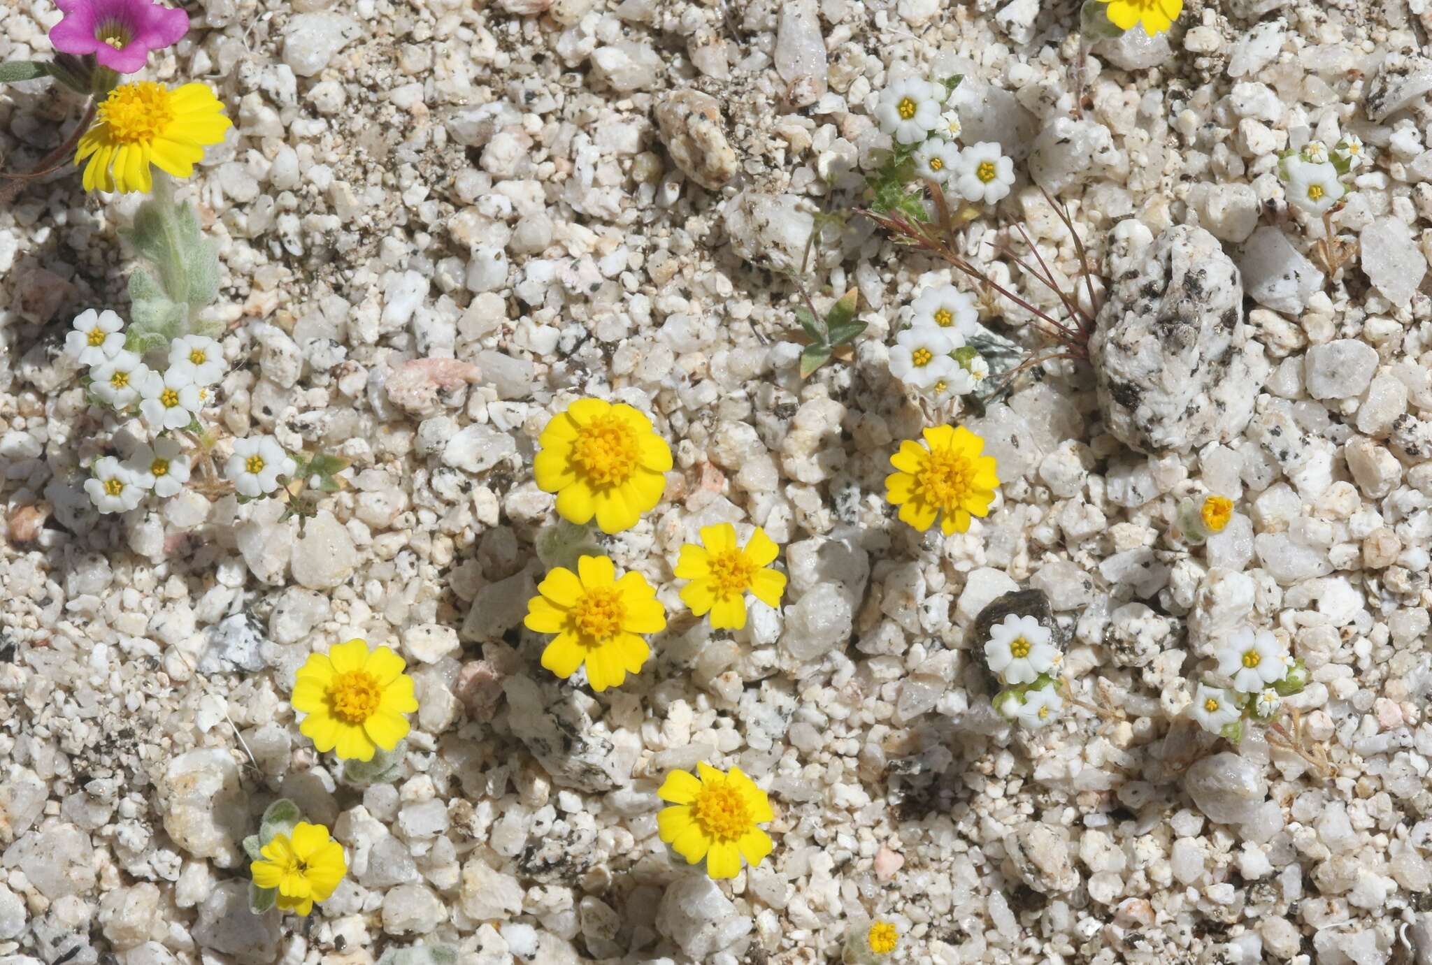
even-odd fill
[[[941,514],[945,535],[965,533],[971,515],[988,515],[1000,485],[994,457],[982,450],[984,440],[964,427],[928,428],[924,444],[905,440],[891,457],[898,471],[885,477],[885,500],[921,533]]]

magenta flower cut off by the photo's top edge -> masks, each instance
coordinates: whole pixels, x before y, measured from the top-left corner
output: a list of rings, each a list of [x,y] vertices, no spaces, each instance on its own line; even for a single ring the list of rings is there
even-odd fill
[[[150,50],[162,50],[189,31],[189,14],[150,0],[54,0],[64,17],[50,29],[62,53],[95,54],[100,66],[135,73]]]

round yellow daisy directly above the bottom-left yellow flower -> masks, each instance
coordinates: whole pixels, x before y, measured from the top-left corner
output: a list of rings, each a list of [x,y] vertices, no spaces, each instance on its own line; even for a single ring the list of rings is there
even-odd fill
[[[407,661],[388,647],[369,650],[349,640],[328,654],[309,654],[294,680],[294,710],[308,714],[299,730],[319,752],[344,760],[372,760],[408,736],[402,714],[418,709]]]

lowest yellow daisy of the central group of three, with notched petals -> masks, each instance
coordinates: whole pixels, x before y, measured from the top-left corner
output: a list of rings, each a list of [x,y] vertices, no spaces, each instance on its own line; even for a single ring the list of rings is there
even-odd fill
[[[584,556],[577,571],[557,567],[527,601],[523,624],[557,639],[541,653],[541,666],[566,680],[587,666],[597,693],[620,687],[652,654],[639,634],[666,629],[666,610],[640,573],[616,578],[610,557]]]

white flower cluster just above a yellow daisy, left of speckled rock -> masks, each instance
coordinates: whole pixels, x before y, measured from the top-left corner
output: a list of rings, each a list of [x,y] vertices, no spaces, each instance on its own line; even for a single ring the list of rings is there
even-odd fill
[[[975,299],[954,285],[937,285],[921,292],[911,311],[911,326],[891,348],[891,375],[937,404],[974,392],[990,375],[990,364],[965,345],[979,331]]]

